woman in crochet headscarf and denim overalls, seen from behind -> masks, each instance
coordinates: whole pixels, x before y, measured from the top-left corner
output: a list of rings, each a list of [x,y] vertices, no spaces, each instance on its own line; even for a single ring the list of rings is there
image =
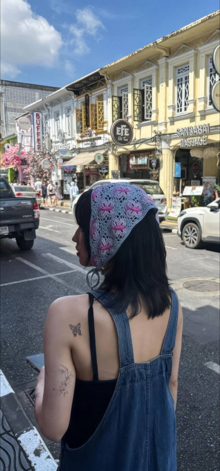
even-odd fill
[[[37,422],[62,438],[59,471],[176,471],[182,311],[157,206],[139,187],[106,184],[80,196],[76,221],[79,262],[104,279],[49,309]]]

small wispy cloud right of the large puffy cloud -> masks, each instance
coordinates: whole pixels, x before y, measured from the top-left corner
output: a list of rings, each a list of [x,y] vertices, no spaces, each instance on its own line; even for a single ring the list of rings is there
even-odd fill
[[[82,56],[90,51],[86,41],[86,36],[90,35],[100,41],[102,39],[101,30],[105,27],[100,19],[94,15],[91,8],[76,10],[76,23],[71,24],[69,31],[72,34],[70,44],[74,46],[74,54]]]

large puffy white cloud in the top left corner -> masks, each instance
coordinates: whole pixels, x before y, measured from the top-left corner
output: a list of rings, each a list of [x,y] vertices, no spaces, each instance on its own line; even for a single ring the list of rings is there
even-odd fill
[[[57,63],[62,44],[60,33],[25,0],[1,0],[2,73],[14,78],[22,65]]]

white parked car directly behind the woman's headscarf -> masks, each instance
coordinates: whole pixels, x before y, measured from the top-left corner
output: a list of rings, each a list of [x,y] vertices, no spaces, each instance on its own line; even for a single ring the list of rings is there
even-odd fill
[[[137,187],[143,188],[147,195],[151,196],[153,201],[156,203],[158,207],[158,215],[160,221],[167,219],[167,200],[166,196],[161,190],[161,187],[158,184],[158,181],[147,179],[105,179],[96,181],[95,183],[93,183],[93,185],[91,185],[91,187],[87,189],[90,190],[97,187],[98,185],[105,185],[106,183],[129,183],[130,185],[136,185]],[[75,206],[79,197],[80,195],[77,195],[74,200],[73,212],[75,211]]]

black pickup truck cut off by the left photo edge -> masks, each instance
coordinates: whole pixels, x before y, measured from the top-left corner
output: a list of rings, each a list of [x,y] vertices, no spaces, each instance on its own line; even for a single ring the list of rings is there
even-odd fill
[[[0,177],[0,238],[15,238],[19,249],[31,249],[39,218],[36,199],[16,197],[7,180]]]

